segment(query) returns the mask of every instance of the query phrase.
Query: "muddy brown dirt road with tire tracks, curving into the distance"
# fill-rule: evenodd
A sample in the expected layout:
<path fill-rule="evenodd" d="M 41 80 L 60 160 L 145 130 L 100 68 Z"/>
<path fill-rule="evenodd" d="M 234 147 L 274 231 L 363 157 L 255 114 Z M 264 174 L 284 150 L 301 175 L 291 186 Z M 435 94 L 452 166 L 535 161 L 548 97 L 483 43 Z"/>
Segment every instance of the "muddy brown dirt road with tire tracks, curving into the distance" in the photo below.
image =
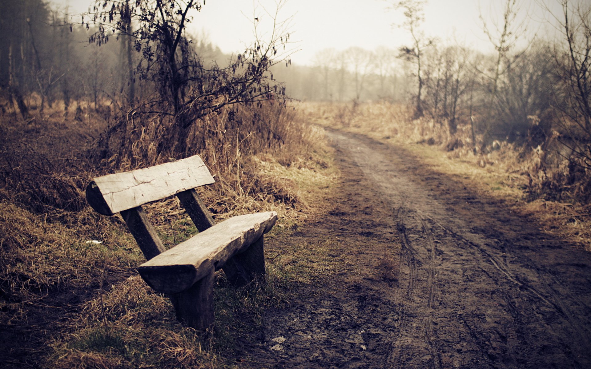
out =
<path fill-rule="evenodd" d="M 400 148 L 328 135 L 335 208 L 288 242 L 332 242 L 340 270 L 268 312 L 252 367 L 591 368 L 589 253 Z"/>

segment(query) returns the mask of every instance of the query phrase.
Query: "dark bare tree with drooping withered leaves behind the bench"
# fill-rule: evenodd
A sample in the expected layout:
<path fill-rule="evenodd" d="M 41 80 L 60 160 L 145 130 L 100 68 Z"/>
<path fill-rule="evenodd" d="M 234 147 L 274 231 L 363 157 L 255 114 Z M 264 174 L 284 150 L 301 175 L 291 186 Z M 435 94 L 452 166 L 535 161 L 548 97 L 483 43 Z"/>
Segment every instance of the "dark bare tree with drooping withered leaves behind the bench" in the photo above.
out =
<path fill-rule="evenodd" d="M 98 27 L 90 37 L 93 43 L 102 45 L 109 38 L 123 36 L 135 40 L 134 48 L 142 56 L 138 74 L 142 80 L 154 83 L 158 94 L 157 100 L 137 108 L 148 107 L 146 113 L 172 116 L 174 127 L 167 130 L 172 135 L 161 141 L 160 149 L 172 141 L 173 151 L 185 155 L 187 136 L 196 119 L 228 105 L 285 98 L 285 87 L 269 71 L 277 63 L 291 63 L 290 50 L 285 48 L 290 38 L 288 21 L 278 19 L 283 4 L 279 1 L 274 13 L 265 11 L 265 16 L 272 19 L 267 40 L 256 31 L 262 15 L 253 17 L 254 43 L 244 53 L 236 54 L 226 67 L 205 67 L 186 37 L 187 24 L 193 19 L 191 12 L 201 11 L 204 1 L 98 1 L 85 18 L 90 17 L 87 28 L 90 24 Z M 136 26 L 131 28 L 130 24 Z"/>

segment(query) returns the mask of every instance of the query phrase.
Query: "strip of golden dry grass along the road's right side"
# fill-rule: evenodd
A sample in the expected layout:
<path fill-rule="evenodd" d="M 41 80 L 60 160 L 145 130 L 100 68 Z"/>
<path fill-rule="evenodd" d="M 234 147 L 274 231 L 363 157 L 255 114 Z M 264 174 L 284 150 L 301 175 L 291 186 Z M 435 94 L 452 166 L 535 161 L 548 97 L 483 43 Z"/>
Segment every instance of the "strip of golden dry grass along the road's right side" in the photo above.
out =
<path fill-rule="evenodd" d="M 577 165 L 582 159 L 564 157 L 568 153 L 556 131 L 535 147 L 504 141 L 483 145 L 482 135 L 473 140 L 469 122 L 460 123 L 452 135 L 445 122 L 413 120 L 405 105 L 306 103 L 301 110 L 321 126 L 404 145 L 467 187 L 511 200 L 515 210 L 536 218 L 547 233 L 591 250 L 590 174 Z M 531 119 L 537 123 L 537 117 Z"/>

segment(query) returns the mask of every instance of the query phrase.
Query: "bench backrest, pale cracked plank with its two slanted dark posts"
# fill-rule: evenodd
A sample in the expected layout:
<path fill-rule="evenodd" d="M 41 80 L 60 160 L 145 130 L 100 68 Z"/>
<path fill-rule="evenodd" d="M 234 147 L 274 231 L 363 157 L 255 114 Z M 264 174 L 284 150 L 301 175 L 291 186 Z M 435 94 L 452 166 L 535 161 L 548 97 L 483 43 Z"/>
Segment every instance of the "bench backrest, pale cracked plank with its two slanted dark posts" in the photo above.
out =
<path fill-rule="evenodd" d="M 86 187 L 86 200 L 100 214 L 121 213 L 147 260 L 164 252 L 164 245 L 141 205 L 176 195 L 200 232 L 213 226 L 212 215 L 194 188 L 215 183 L 197 156 L 135 171 L 95 178 Z"/>

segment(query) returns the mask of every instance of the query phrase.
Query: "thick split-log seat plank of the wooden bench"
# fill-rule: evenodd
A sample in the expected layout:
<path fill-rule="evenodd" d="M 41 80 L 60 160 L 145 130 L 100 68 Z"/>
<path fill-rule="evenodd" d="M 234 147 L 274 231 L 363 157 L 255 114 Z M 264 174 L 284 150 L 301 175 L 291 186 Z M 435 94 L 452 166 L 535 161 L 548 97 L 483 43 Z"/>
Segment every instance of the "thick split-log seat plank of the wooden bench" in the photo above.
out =
<path fill-rule="evenodd" d="M 230 218 L 141 264 L 138 272 L 158 292 L 183 292 L 212 266 L 220 269 L 230 257 L 255 243 L 276 220 L 275 211 Z"/>

